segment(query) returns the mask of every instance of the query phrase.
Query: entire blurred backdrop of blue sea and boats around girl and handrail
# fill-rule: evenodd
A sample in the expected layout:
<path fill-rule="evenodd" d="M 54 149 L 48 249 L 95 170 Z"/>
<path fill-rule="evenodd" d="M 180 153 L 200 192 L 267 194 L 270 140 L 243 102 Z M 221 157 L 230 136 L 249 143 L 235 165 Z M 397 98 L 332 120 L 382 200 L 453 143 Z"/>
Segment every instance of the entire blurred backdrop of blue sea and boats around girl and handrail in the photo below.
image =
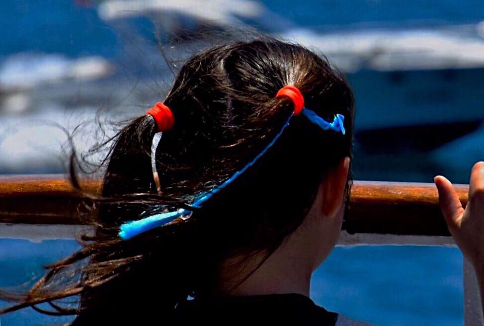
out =
<path fill-rule="evenodd" d="M 468 183 L 484 160 L 482 0 L 6 0 L 0 27 L 1 174 L 65 173 L 72 145 L 95 162 L 89 149 L 163 99 L 187 56 L 247 31 L 308 46 L 346 76 L 356 179 Z M 0 286 L 76 248 L 0 239 Z M 376 325 L 462 325 L 462 256 L 339 247 L 311 295 Z M 29 310 L 0 321 L 57 322 Z"/>

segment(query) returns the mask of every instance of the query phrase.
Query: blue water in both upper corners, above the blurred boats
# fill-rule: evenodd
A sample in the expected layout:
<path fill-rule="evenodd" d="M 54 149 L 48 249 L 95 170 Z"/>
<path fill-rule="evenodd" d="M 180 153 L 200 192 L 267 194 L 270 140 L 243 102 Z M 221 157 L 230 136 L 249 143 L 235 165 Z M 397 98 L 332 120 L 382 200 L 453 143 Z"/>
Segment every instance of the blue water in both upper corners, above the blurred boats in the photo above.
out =
<path fill-rule="evenodd" d="M 96 2 L 96 1 L 91 1 Z M 299 26 L 334 30 L 470 24 L 484 20 L 481 0 L 291 0 L 260 1 Z M 138 27 L 145 22 L 138 21 Z M 61 52 L 69 56 L 121 54 L 120 35 L 94 6 L 75 0 L 6 0 L 0 7 L 0 55 L 20 51 Z M 150 34 L 149 25 L 139 28 Z"/>

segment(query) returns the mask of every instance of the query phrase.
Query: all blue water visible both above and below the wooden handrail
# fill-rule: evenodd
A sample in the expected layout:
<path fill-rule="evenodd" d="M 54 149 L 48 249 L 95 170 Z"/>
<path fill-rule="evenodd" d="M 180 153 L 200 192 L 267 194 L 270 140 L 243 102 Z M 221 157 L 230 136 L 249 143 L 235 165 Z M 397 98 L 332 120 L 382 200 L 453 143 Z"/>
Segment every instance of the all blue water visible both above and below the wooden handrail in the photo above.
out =
<path fill-rule="evenodd" d="M 262 2 L 296 25 L 321 31 L 476 24 L 484 20 L 482 0 Z M 149 20 L 132 22 L 137 32 L 153 37 Z M 80 6 L 74 0 L 2 1 L 0 28 L 5 31 L 0 37 L 0 61 L 24 51 L 62 53 L 72 58 L 100 55 L 113 61 L 123 54 L 123 38 L 114 24 L 100 19 L 94 6 Z M 364 97 L 357 103 L 370 107 L 375 102 Z M 361 168 L 356 177 L 430 182 L 434 174 L 446 172 L 458 182 L 467 182 L 469 168 L 483 153 L 475 150 L 483 135 L 484 130 L 465 137 L 465 147 L 474 150 L 463 152 L 462 140 L 456 140 L 432 155 L 414 155 L 405 162 L 399 156 L 382 153 L 368 157 L 359 152 L 355 159 Z M 42 275 L 42 265 L 77 247 L 72 241 L 38 244 L 0 239 L 0 286 L 31 284 Z M 311 296 L 328 310 L 377 325 L 462 325 L 462 255 L 457 248 L 448 247 L 338 247 L 315 273 Z M 63 322 L 32 310 L 2 316 L 0 321 L 2 326 Z"/>

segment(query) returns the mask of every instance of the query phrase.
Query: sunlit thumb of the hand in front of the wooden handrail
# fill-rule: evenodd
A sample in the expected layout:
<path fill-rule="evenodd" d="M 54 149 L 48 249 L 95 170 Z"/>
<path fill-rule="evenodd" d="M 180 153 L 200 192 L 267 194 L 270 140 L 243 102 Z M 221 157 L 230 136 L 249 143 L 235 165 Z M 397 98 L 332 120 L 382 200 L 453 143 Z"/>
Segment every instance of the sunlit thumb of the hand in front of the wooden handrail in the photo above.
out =
<path fill-rule="evenodd" d="M 440 209 L 447 226 L 449 229 L 455 229 L 459 226 L 460 217 L 464 214 L 464 208 L 459 200 L 459 196 L 447 178 L 438 175 L 434 178 L 434 182 L 439 192 Z"/>

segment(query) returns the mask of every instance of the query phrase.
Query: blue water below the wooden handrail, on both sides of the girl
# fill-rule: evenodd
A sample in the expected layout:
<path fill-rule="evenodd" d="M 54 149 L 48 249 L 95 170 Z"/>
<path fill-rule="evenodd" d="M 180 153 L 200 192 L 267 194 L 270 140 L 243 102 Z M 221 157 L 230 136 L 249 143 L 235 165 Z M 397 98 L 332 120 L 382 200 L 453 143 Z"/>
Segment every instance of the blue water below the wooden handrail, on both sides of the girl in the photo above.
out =
<path fill-rule="evenodd" d="M 66 240 L 0 239 L 0 286 L 32 284 L 43 274 L 43 265 L 78 248 L 76 242 Z M 336 247 L 315 272 L 311 297 L 327 310 L 376 325 L 462 325 L 462 277 L 462 255 L 457 248 Z M 69 320 L 30 309 L 0 317 L 2 326 Z"/>

